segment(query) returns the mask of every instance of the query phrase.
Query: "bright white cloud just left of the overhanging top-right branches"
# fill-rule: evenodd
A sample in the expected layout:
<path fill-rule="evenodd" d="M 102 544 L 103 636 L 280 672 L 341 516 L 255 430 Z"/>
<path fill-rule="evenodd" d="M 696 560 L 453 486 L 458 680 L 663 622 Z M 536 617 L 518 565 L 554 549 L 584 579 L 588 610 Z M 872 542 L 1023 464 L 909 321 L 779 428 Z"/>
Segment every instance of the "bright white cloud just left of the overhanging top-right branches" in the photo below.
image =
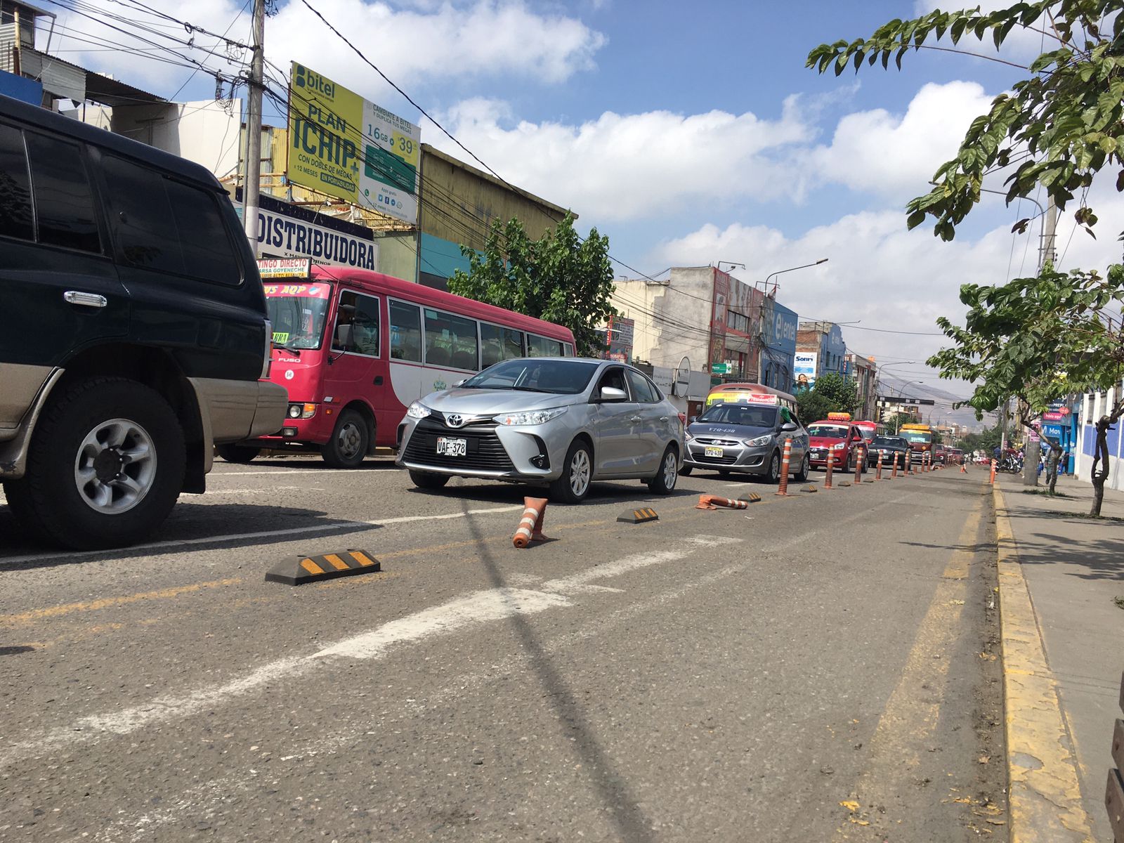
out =
<path fill-rule="evenodd" d="M 812 166 L 821 180 L 855 190 L 919 196 L 992 99 L 975 82 L 926 84 L 904 115 L 874 109 L 843 117 L 832 143 L 810 153 Z"/>

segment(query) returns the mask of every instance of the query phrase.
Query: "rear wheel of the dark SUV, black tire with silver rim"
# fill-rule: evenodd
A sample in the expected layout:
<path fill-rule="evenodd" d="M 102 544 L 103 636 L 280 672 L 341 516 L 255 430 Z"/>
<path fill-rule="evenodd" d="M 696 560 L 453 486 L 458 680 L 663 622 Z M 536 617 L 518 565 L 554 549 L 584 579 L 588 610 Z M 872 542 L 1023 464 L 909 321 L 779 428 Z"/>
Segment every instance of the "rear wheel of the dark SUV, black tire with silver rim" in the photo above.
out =
<path fill-rule="evenodd" d="M 135 544 L 167 517 L 183 488 L 183 428 L 154 389 L 85 378 L 53 396 L 35 430 L 13 511 L 74 550 Z"/>

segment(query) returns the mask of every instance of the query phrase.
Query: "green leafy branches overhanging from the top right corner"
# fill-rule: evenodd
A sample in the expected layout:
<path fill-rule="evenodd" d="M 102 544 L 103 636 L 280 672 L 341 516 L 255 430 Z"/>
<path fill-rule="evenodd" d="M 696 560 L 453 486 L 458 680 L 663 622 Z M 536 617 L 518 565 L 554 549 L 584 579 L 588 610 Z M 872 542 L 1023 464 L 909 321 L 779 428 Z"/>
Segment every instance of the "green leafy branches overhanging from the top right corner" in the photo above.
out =
<path fill-rule="evenodd" d="M 975 55 L 958 48 L 961 39 L 989 38 L 998 48 L 1015 27 L 1042 34 L 1050 48 L 1030 65 L 995 60 L 1025 70 L 1027 78 L 972 121 L 957 157 L 936 170 L 933 189 L 907 206 L 910 228 L 932 216 L 934 234 L 951 241 L 980 200 L 984 176 L 1001 167 L 1015 165 L 1007 179 L 1008 203 L 1041 185 L 1064 209 L 1073 192 L 1085 191 L 1106 166 L 1120 171 L 1116 189 L 1124 190 L 1124 15 L 1114 13 L 1120 8 L 1120 0 L 1039 0 L 986 13 L 937 9 L 891 20 L 869 38 L 821 44 L 808 54 L 807 66 L 839 75 L 850 64 L 858 72 L 863 61 L 880 58 L 887 67 L 892 55 L 900 70 L 910 49 Z M 1111 30 L 1102 29 L 1106 16 Z M 945 36 L 951 46 L 940 45 Z M 1091 234 L 1097 218 L 1084 196 L 1073 217 Z"/>

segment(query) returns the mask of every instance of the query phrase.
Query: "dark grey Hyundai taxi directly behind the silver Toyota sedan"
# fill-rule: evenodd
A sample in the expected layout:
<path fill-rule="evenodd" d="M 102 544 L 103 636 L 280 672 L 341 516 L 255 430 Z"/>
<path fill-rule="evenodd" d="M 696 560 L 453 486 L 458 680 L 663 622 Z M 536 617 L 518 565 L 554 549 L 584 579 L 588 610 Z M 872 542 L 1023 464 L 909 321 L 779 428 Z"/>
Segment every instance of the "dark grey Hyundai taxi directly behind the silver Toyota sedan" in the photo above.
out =
<path fill-rule="evenodd" d="M 808 479 L 808 432 L 778 396 L 761 393 L 755 399 L 713 404 L 688 425 L 683 474 L 710 469 L 720 474 L 756 474 L 776 483 L 785 439 L 790 438 L 789 473 L 799 482 Z"/>

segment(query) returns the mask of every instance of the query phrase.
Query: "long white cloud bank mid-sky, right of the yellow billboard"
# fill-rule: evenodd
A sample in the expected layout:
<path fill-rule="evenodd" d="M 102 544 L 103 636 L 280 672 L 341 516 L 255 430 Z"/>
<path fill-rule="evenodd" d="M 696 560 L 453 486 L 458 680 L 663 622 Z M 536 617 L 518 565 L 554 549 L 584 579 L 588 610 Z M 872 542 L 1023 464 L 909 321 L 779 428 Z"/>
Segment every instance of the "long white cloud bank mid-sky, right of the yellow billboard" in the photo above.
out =
<path fill-rule="evenodd" d="M 606 111 L 580 125 L 511 123 L 507 106 L 491 100 L 463 102 L 445 118 L 465 146 L 498 162 L 507 181 L 598 221 L 664 216 L 685 202 L 789 196 L 786 156 L 813 132 L 796 97 L 777 120 L 715 110 Z M 432 126 L 423 133 L 463 155 Z"/>

